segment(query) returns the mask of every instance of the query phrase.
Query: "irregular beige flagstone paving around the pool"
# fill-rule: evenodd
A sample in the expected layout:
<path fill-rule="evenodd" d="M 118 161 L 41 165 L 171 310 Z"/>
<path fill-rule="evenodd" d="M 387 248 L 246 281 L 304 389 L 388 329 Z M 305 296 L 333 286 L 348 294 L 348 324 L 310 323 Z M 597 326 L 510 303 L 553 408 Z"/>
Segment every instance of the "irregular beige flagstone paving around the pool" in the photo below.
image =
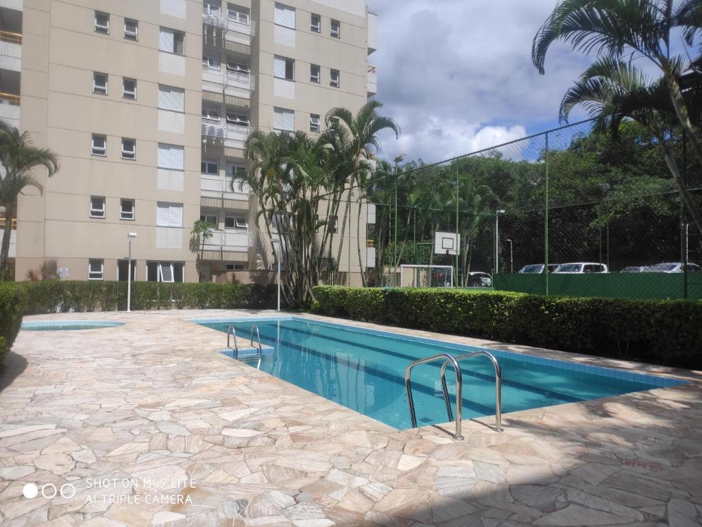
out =
<path fill-rule="evenodd" d="M 223 333 L 185 322 L 236 314 L 27 318 L 126 325 L 20 332 L 0 382 L 1 525 L 701 522 L 701 372 L 429 334 L 691 380 L 507 414 L 503 433 L 464 422 L 454 441 L 442 427 L 397 431 L 226 358 Z M 69 486 L 29 499 L 26 483 Z"/>

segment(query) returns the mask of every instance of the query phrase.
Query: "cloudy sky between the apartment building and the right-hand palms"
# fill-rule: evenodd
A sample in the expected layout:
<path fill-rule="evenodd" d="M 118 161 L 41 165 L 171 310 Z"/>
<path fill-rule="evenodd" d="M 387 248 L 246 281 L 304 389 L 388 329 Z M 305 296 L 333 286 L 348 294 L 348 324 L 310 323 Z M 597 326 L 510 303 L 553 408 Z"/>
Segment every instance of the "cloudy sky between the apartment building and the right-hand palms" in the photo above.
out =
<path fill-rule="evenodd" d="M 381 134 L 380 157 L 437 162 L 558 126 L 559 103 L 590 60 L 556 44 L 545 75 L 531 63 L 556 3 L 367 0 L 378 15 L 376 100 L 402 129 L 399 141 Z"/>

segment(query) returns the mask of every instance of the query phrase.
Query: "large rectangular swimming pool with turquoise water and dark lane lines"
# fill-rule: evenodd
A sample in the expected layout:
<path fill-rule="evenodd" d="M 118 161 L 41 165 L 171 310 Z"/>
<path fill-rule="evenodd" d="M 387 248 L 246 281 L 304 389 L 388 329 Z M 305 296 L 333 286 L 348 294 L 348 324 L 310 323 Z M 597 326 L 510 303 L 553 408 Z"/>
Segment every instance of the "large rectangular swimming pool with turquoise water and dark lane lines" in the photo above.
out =
<path fill-rule="evenodd" d="M 272 353 L 261 358 L 260 370 L 397 429 L 411 427 L 404 386 L 404 373 L 409 363 L 437 353 L 458 355 L 479 349 L 299 317 L 192 322 L 221 332 L 232 325 L 239 337 L 246 339 L 251 326 L 258 325 L 263 344 L 274 348 Z M 508 351 L 489 351 L 502 369 L 503 412 L 682 384 L 677 379 Z M 251 363 L 251 359 L 240 360 Z M 441 362 L 437 361 L 420 365 L 412 373 L 419 426 L 447 420 L 440 367 Z M 494 370 L 489 359 L 483 356 L 466 360 L 461 363 L 461 372 L 463 419 L 494 415 Z M 450 370 L 446 380 L 449 393 L 455 393 Z M 451 402 L 455 403 L 453 398 Z"/>

